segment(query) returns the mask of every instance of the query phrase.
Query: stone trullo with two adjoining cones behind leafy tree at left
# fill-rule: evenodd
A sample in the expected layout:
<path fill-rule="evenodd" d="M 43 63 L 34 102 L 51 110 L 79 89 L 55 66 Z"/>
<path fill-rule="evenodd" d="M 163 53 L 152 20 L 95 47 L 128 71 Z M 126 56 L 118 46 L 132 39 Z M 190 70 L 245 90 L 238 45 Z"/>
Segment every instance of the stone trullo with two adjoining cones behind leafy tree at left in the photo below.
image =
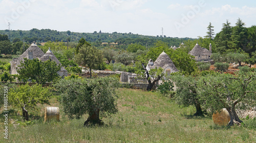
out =
<path fill-rule="evenodd" d="M 49 50 L 44 53 L 36 44 L 33 42 L 31 46 L 22 54 L 19 56 L 19 58 L 13 59 L 11 63 L 11 74 L 18 74 L 16 68 L 18 68 L 18 65 L 24 60 L 24 58 L 27 58 L 29 60 L 32 59 L 39 59 L 42 62 L 45 62 L 51 58 L 51 60 L 55 61 L 57 65 L 60 64 L 59 60 L 56 58 L 56 56 L 52 53 L 52 51 Z M 61 64 L 60 64 L 61 65 Z M 61 67 L 59 71 L 59 75 L 62 76 L 67 76 L 68 71 L 64 68 Z"/>

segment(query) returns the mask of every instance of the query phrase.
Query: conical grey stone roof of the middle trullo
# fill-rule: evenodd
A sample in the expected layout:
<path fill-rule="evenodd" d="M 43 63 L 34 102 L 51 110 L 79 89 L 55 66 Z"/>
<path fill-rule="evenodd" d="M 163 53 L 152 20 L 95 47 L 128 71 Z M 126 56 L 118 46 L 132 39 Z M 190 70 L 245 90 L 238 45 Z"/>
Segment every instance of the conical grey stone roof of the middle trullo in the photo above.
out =
<path fill-rule="evenodd" d="M 158 56 L 157 60 L 154 62 L 154 65 L 147 65 L 148 68 L 154 69 L 154 68 L 167 68 L 170 67 L 174 72 L 178 72 L 179 70 L 175 67 L 172 60 L 170 60 L 168 54 L 166 54 L 164 51 Z"/>

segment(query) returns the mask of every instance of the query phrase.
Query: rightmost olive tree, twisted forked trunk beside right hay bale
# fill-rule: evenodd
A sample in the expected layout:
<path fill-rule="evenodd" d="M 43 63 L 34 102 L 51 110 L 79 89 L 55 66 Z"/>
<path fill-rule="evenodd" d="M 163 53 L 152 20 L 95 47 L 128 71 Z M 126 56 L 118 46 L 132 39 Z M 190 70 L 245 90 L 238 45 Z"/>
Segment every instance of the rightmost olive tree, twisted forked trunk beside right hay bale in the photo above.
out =
<path fill-rule="evenodd" d="M 200 79 L 200 99 L 205 107 L 215 112 L 226 108 L 229 112 L 228 125 L 240 124 L 236 107 L 246 109 L 256 105 L 255 72 L 239 72 L 231 74 L 206 75 Z"/>

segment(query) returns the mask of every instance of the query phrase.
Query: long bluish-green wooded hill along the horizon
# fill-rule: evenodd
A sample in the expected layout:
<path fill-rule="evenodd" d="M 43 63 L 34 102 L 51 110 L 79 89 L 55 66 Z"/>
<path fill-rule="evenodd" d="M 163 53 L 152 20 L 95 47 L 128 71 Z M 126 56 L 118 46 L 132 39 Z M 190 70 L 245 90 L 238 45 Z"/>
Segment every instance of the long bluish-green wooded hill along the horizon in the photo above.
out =
<path fill-rule="evenodd" d="M 8 35 L 10 41 L 12 42 L 15 38 L 19 38 L 20 40 L 25 39 L 27 42 L 32 43 L 36 42 L 47 42 L 47 41 L 63 41 L 67 42 L 69 38 L 70 42 L 78 42 L 82 37 L 86 39 L 88 42 L 115 42 L 118 44 L 128 45 L 130 43 L 141 43 L 143 45 L 151 44 L 155 41 L 163 41 L 168 43 L 169 45 L 179 45 L 182 41 L 186 41 L 188 39 L 193 40 L 191 38 L 172 38 L 172 37 L 157 37 L 157 36 L 144 36 L 132 33 L 77 33 L 77 32 L 59 32 L 56 30 L 50 29 L 42 29 L 38 30 L 33 28 L 30 31 L 22 31 L 22 30 L 0 30 L 0 34 Z"/>

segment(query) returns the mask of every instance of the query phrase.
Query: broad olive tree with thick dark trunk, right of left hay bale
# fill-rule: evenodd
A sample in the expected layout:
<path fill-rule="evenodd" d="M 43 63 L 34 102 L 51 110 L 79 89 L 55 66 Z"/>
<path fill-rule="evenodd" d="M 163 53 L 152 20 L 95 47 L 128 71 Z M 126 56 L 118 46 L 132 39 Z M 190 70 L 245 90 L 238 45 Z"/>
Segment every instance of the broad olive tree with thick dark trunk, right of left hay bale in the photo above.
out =
<path fill-rule="evenodd" d="M 63 110 L 70 119 L 89 114 L 84 125 L 102 124 L 100 115 L 105 117 L 118 111 L 116 78 L 62 79 L 54 87 L 60 93 Z"/>

